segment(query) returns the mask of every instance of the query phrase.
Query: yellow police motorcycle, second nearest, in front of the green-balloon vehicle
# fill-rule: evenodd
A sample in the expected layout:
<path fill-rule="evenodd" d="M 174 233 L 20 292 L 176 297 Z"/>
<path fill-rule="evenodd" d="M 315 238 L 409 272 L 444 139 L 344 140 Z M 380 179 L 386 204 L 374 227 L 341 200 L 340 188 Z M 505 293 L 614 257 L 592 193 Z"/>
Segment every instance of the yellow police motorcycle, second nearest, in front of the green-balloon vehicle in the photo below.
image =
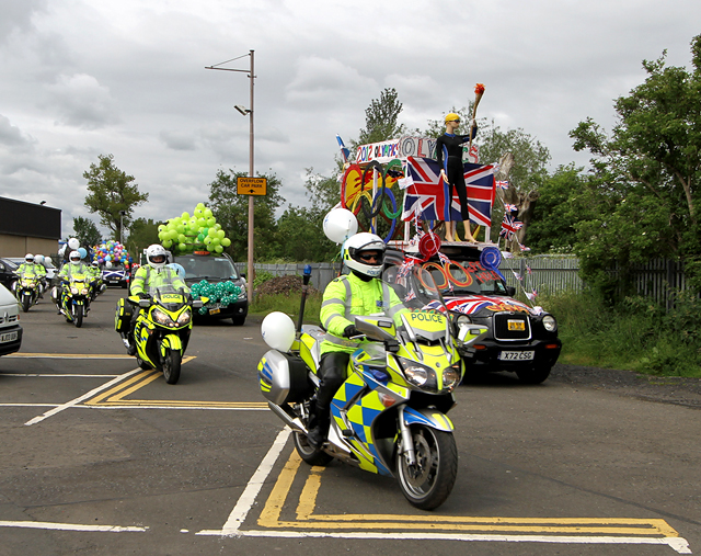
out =
<path fill-rule="evenodd" d="M 172 285 L 151 287 L 148 298 L 130 295 L 117 303 L 115 330 L 129 349 L 136 343 L 136 360 L 143 370 L 157 368 L 168 384 L 180 378 L 180 367 L 193 329 L 193 308 L 199 309 L 208 298 L 193 299 L 185 290 Z M 134 327 L 129 327 L 134 310 L 140 309 Z"/>

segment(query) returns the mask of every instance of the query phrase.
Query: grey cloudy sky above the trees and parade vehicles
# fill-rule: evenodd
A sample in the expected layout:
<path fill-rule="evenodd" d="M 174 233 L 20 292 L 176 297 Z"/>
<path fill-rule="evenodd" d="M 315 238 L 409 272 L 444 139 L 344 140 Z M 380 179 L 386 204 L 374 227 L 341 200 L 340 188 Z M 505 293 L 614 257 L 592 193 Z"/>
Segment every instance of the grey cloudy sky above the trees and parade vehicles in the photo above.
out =
<path fill-rule="evenodd" d="M 208 197 L 218 169 L 249 169 L 245 73 L 255 50 L 255 169 L 304 200 L 306 168 L 329 174 L 388 87 L 401 122 L 425 128 L 486 92 L 479 116 L 520 127 L 553 167 L 587 156 L 567 133 L 610 129 L 613 99 L 668 50 L 689 66 L 699 0 L 0 0 L 0 196 L 60 208 L 64 235 L 101 154 L 166 219 Z"/>

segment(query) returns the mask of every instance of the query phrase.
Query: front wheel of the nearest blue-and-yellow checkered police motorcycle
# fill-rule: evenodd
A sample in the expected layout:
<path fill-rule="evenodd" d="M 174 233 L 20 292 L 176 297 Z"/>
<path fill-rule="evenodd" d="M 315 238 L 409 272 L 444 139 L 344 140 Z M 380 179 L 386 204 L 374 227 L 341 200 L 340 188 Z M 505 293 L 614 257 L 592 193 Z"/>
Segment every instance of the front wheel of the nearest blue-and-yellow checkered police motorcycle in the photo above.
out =
<path fill-rule="evenodd" d="M 411 427 L 416 464 L 399 456 L 397 470 L 404 498 L 421 510 L 434 510 L 446 501 L 458 476 L 458 449 L 452 433 L 423 424 Z"/>

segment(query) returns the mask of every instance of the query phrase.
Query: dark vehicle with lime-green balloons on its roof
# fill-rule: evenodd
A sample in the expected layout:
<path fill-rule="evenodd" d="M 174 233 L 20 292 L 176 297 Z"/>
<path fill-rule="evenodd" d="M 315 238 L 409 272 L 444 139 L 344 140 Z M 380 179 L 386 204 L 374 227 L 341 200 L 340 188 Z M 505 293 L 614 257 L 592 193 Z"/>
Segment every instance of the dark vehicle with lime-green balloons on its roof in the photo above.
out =
<path fill-rule="evenodd" d="M 234 325 L 241 326 L 249 315 L 249 298 L 245 291 L 245 279 L 239 274 L 231 258 L 226 254 L 215 254 L 208 251 L 182 254 L 174 258 L 175 263 L 185 269 L 185 282 L 189 287 L 203 280 L 210 284 L 230 282 L 239 287 L 239 294 L 233 303 L 225 304 L 210 300 L 199 318 L 230 318 Z"/>

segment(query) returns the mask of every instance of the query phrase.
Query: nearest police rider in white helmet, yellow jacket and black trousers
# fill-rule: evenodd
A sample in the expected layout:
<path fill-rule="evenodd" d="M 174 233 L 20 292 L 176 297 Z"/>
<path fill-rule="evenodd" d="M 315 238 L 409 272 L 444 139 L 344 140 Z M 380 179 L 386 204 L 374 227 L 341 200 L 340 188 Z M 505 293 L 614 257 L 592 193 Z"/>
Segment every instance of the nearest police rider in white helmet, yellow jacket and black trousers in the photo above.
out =
<path fill-rule="evenodd" d="M 379 280 L 384 249 L 384 242 L 375 234 L 360 232 L 348 238 L 342 254 L 350 273 L 334 279 L 324 290 L 320 318 L 326 334 L 321 343 L 321 384 L 308 427 L 308 440 L 314 449 L 321 447 L 329 433 L 331 400 L 346 379 L 350 353 L 365 341 L 353 339 L 358 336 L 354 318 L 378 314 L 393 317 L 406 310 L 397 295 L 391 297 L 391 307 L 383 304 L 383 298 L 390 298 L 386 293 L 388 286 L 383 287 Z"/>

